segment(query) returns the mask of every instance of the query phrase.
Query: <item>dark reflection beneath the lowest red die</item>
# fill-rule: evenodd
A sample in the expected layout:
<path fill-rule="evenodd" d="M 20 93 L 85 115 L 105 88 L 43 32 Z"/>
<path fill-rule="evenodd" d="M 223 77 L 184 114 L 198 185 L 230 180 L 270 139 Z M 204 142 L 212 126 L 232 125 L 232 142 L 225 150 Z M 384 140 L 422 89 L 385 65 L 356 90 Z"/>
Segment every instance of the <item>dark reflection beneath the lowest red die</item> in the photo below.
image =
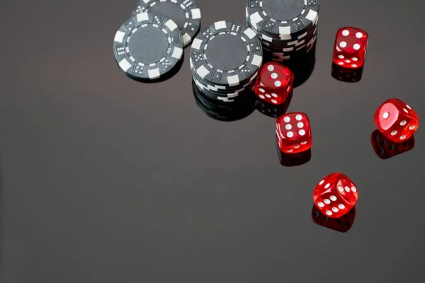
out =
<path fill-rule="evenodd" d="M 353 207 L 349 212 L 338 218 L 329 218 L 313 205 L 312 220 L 314 224 L 323 226 L 328 229 L 346 233 L 353 226 L 354 219 L 356 219 L 356 207 Z"/>

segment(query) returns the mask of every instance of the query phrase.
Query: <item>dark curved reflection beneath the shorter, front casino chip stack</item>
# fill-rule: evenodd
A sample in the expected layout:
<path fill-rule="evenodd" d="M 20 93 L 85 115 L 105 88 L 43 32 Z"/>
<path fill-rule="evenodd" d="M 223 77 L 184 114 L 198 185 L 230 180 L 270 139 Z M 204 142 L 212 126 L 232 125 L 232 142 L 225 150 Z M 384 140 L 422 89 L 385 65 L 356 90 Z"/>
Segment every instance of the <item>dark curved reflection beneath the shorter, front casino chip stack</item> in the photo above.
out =
<path fill-rule="evenodd" d="M 237 121 L 251 115 L 255 110 L 254 96 L 249 94 L 244 99 L 219 103 L 205 95 L 192 81 L 193 95 L 198 107 L 212 119 L 219 121 Z"/>

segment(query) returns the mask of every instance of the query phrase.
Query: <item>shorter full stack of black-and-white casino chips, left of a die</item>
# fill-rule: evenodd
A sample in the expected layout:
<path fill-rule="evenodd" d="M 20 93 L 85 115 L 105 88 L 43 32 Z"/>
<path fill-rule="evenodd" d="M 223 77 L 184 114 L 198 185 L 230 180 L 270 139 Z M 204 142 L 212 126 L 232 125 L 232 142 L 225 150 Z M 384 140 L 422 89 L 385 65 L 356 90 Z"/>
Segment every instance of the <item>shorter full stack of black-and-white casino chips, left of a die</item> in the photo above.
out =
<path fill-rule="evenodd" d="M 242 23 L 213 23 L 192 42 L 193 81 L 213 102 L 232 103 L 251 96 L 262 62 L 259 37 Z"/>

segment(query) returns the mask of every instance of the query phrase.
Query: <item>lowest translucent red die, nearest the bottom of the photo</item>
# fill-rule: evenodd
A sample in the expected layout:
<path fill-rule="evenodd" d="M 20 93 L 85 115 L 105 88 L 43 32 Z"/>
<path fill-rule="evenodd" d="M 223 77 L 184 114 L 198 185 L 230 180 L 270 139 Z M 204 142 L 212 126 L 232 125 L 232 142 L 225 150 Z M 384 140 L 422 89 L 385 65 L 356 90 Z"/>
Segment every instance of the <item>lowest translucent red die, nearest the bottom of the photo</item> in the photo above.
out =
<path fill-rule="evenodd" d="M 350 211 L 358 199 L 357 187 L 342 173 L 331 173 L 317 184 L 313 202 L 323 214 L 338 218 Z"/>

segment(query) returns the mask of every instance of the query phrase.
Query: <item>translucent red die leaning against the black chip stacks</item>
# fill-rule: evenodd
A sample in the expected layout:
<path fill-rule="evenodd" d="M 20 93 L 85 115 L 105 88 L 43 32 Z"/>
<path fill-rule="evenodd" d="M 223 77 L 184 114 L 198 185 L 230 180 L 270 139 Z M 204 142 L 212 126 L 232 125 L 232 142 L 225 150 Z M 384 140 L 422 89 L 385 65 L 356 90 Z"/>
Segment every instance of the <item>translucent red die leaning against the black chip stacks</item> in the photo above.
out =
<path fill-rule="evenodd" d="M 293 88 L 294 74 L 288 67 L 276 62 L 261 67 L 254 92 L 261 100 L 279 105 L 285 102 Z"/>

